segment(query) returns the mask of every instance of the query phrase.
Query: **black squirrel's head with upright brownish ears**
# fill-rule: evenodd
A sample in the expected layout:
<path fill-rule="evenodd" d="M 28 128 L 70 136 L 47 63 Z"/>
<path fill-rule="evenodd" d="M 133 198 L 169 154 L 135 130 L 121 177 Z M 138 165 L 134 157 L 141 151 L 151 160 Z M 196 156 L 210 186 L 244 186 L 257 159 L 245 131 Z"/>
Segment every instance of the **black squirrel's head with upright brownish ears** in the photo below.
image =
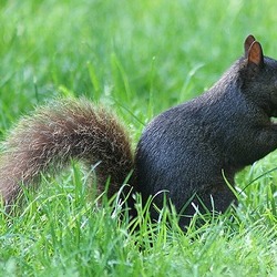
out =
<path fill-rule="evenodd" d="M 277 61 L 264 55 L 252 34 L 246 38 L 244 49 L 239 62 L 242 92 L 273 116 L 277 111 Z"/>

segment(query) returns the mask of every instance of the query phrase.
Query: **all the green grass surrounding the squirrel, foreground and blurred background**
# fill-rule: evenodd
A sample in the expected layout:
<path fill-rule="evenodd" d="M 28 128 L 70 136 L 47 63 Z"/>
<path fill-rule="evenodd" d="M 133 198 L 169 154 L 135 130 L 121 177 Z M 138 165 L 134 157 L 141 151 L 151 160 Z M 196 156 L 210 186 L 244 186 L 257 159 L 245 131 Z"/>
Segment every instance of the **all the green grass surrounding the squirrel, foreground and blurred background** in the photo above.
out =
<path fill-rule="evenodd" d="M 0 136 L 37 104 L 85 95 L 116 111 L 135 146 L 151 117 L 211 86 L 247 34 L 277 58 L 276 11 L 269 0 L 0 0 Z M 232 218 L 186 234 L 166 211 L 156 225 L 141 212 L 130 233 L 116 198 L 99 206 L 72 165 L 25 192 L 22 213 L 0 215 L 0 276 L 276 276 L 276 157 L 238 174 Z"/>

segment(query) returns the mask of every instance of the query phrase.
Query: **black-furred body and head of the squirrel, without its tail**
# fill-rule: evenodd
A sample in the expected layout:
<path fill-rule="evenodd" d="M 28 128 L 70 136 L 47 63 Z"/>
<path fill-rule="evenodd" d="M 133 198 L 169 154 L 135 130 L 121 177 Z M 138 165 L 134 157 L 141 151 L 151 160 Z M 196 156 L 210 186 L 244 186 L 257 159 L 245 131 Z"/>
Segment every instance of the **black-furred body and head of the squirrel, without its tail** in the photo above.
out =
<path fill-rule="evenodd" d="M 249 35 L 245 55 L 207 92 L 157 115 L 138 142 L 137 189 L 146 199 L 166 191 L 179 212 L 196 194 L 206 207 L 224 212 L 235 196 L 235 173 L 277 147 L 277 61 L 263 55 Z M 211 201 L 213 197 L 213 202 Z M 193 203 L 202 205 L 195 196 Z M 162 206 L 163 194 L 155 197 Z M 195 209 L 192 203 L 186 215 Z M 183 219 L 186 224 L 188 220 Z"/>

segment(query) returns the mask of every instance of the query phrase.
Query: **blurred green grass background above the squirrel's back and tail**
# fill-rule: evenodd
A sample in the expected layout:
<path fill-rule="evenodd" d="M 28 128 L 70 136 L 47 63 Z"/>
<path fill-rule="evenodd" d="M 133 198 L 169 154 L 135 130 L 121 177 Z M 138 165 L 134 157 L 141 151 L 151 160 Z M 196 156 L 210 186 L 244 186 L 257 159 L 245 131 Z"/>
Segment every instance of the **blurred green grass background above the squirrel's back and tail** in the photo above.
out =
<path fill-rule="evenodd" d="M 140 133 L 142 122 L 211 86 L 247 34 L 266 54 L 276 49 L 269 0 L 0 2 L 1 130 L 34 104 L 74 94 L 120 110 Z"/>

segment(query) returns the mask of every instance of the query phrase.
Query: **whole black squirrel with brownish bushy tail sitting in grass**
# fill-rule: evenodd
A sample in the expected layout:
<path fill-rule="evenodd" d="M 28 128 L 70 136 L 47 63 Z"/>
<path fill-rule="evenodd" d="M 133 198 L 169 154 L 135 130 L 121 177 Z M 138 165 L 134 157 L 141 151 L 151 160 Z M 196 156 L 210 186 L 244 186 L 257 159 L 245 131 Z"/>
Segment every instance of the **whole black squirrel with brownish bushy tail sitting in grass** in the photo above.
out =
<path fill-rule="evenodd" d="M 39 106 L 2 144 L 3 201 L 12 204 L 21 193 L 19 184 L 38 183 L 41 173 L 76 158 L 88 166 L 100 161 L 99 189 L 110 177 L 109 195 L 133 171 L 129 183 L 143 201 L 157 194 L 154 202 L 161 207 L 166 196 L 188 216 L 195 207 L 205 211 L 203 204 L 225 212 L 236 197 L 224 175 L 234 184 L 235 173 L 277 147 L 277 124 L 270 121 L 277 115 L 277 61 L 264 57 L 253 35 L 244 48 L 244 57 L 212 89 L 157 115 L 135 154 L 124 126 L 103 107 L 72 99 Z M 188 222 L 181 217 L 181 224 Z"/>

